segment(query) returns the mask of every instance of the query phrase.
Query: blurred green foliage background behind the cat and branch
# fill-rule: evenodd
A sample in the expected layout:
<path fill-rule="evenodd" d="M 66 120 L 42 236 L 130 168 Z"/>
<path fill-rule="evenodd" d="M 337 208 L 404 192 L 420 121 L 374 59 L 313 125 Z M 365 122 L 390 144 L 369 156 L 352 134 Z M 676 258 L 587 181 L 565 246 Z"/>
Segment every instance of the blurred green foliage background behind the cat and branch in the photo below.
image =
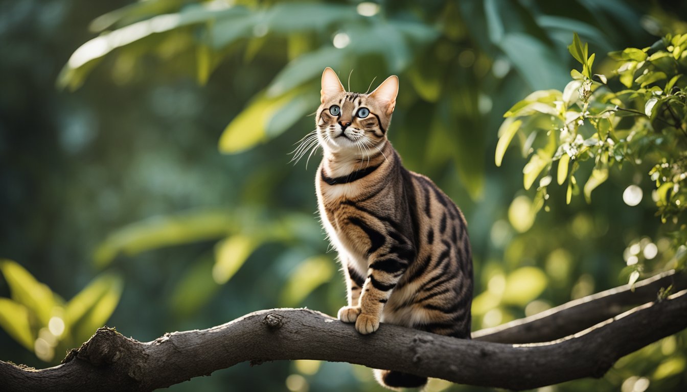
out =
<path fill-rule="evenodd" d="M 617 150 L 633 123 L 642 124 L 636 132 L 667 135 L 673 128 L 658 118 L 679 102 L 659 100 L 675 95 L 665 89 L 668 75 L 682 71 L 662 69 L 667 56 L 640 65 L 631 57 L 642 56 L 638 52 L 620 51 L 613 56 L 629 57 L 621 64 L 636 64 L 624 69 L 626 76 L 616 75 L 619 60 L 605 54 L 637 47 L 647 58 L 663 51 L 677 61 L 674 44 L 651 48 L 668 33 L 671 39 L 687 33 L 685 19 L 681 2 L 639 0 L 0 2 L 0 50 L 8 54 L 0 61 L 0 252 L 30 270 L 32 281 L 49 286 L 35 292 L 50 293 L 51 309 L 63 309 L 62 316 L 49 313 L 48 324 L 30 316 L 36 310 L 14 297 L 16 284 L 3 270 L 0 296 L 11 299 L 0 299 L 0 356 L 44 367 L 34 351 L 38 338 L 55 343 L 52 360 L 84 341 L 95 330 L 87 320 L 97 317 L 84 312 L 81 321 L 68 322 L 78 313 L 68 317 L 65 307 L 77 298 L 82 309 L 98 310 L 101 324 L 114 309 L 106 322 L 142 341 L 275 306 L 336 314 L 346 301 L 345 286 L 313 214 L 314 171 L 287 165 L 293 143 L 313 129 L 306 115 L 319 104 L 326 66 L 352 91 L 374 87 L 391 73 L 400 77 L 389 137 L 407 168 L 438 183 L 470 224 L 473 329 L 617 286 L 639 266 L 647 274 L 659 270 L 676 255 L 666 227 L 675 224 L 670 214 L 675 200 L 682 205 L 682 187 L 664 187 L 666 224 L 654 216 L 657 205 L 648 197 L 635 206 L 622 200 L 626 192 L 637 194 L 629 184 L 648 194 L 647 177 L 661 182 L 652 183 L 656 188 L 681 181 L 673 178 L 671 162 L 663 167 L 652 161 L 657 152 L 642 157 L 624 150 L 628 161 L 611 170 L 616 157 L 609 154 L 602 182 L 604 176 L 592 176 L 596 157 L 606 151 L 600 146 L 583 143 L 594 159 L 590 154 L 573 174 L 581 159 L 568 161 L 567 170 L 559 170 L 556 159 L 551 168 L 565 141 L 556 139 L 547 150 L 547 130 L 563 126 L 552 125 L 546 113 L 507 117 L 510 124 L 497 130 L 502 114 L 532 91 L 540 92 L 527 98 L 530 103 L 541 98 L 549 108 L 567 91 L 565 111 L 583 113 L 584 125 L 571 124 L 583 142 L 602 130 L 616 137 Z M 581 37 L 574 52 L 582 67 L 567 48 L 574 32 Z M 586 53 L 582 41 L 589 43 Z M 576 91 L 565 88 L 573 67 L 581 68 L 575 82 L 591 80 L 585 111 Z M 635 82 L 644 69 L 653 76 Z M 595 73 L 606 76 L 603 84 Z M 673 87 L 684 83 L 679 78 Z M 652 95 L 656 86 L 662 95 Z M 604 95 L 611 89 L 617 97 Z M 620 94 L 623 89 L 635 92 Z M 651 97 L 657 100 L 646 116 Z M 640 114 L 609 112 L 614 123 L 606 130 L 590 116 L 614 108 L 613 98 Z M 675 124 L 672 117 L 666 121 Z M 497 137 L 507 133 L 521 151 Z M 641 139 L 651 138 L 631 139 L 626 147 L 636 148 L 631 143 Z M 668 150 L 679 154 L 678 148 Z M 494 151 L 499 168 L 492 164 Z M 539 157 L 528 164 L 527 190 L 519 153 Z M 642 162 L 629 161 L 633 157 Z M 655 165 L 660 168 L 651 178 Z M 568 205 L 567 187 L 551 186 L 559 172 L 561 184 L 579 180 L 572 190 L 580 193 L 587 178 L 596 178 L 592 203 L 571 197 Z M 547 191 L 537 192 L 542 186 Z M 121 290 L 122 281 L 126 290 L 115 309 L 108 293 Z M 56 292 L 74 299 L 65 304 Z M 57 341 L 40 335 L 53 316 L 65 323 Z M 543 391 L 682 390 L 686 338 L 682 332 L 622 358 L 600 380 Z M 247 366 L 171 389 L 381 390 L 359 366 Z M 484 389 L 441 380 L 428 387 L 447 390 Z"/>

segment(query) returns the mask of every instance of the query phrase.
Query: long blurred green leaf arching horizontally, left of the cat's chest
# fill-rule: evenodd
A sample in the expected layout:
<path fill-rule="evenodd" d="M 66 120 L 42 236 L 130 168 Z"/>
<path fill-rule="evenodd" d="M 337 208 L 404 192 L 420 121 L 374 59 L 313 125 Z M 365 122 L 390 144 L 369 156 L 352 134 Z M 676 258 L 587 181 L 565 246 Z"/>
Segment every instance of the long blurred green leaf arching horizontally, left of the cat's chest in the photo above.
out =
<path fill-rule="evenodd" d="M 104 267 L 120 253 L 135 255 L 164 246 L 222 238 L 232 228 L 232 220 L 224 209 L 157 216 L 129 224 L 108 235 L 95 249 L 93 261 L 95 265 Z"/>

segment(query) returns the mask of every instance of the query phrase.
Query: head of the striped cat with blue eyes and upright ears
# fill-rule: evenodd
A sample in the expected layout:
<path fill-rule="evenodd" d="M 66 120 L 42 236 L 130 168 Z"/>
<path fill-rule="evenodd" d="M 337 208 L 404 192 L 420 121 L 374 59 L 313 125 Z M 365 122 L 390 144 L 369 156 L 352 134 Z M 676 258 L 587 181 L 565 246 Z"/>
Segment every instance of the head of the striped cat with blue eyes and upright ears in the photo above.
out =
<path fill-rule="evenodd" d="M 322 104 L 315 117 L 319 143 L 330 152 L 365 155 L 374 151 L 386 140 L 397 93 L 396 76 L 387 78 L 372 93 L 350 93 L 327 67 L 322 73 Z"/>

